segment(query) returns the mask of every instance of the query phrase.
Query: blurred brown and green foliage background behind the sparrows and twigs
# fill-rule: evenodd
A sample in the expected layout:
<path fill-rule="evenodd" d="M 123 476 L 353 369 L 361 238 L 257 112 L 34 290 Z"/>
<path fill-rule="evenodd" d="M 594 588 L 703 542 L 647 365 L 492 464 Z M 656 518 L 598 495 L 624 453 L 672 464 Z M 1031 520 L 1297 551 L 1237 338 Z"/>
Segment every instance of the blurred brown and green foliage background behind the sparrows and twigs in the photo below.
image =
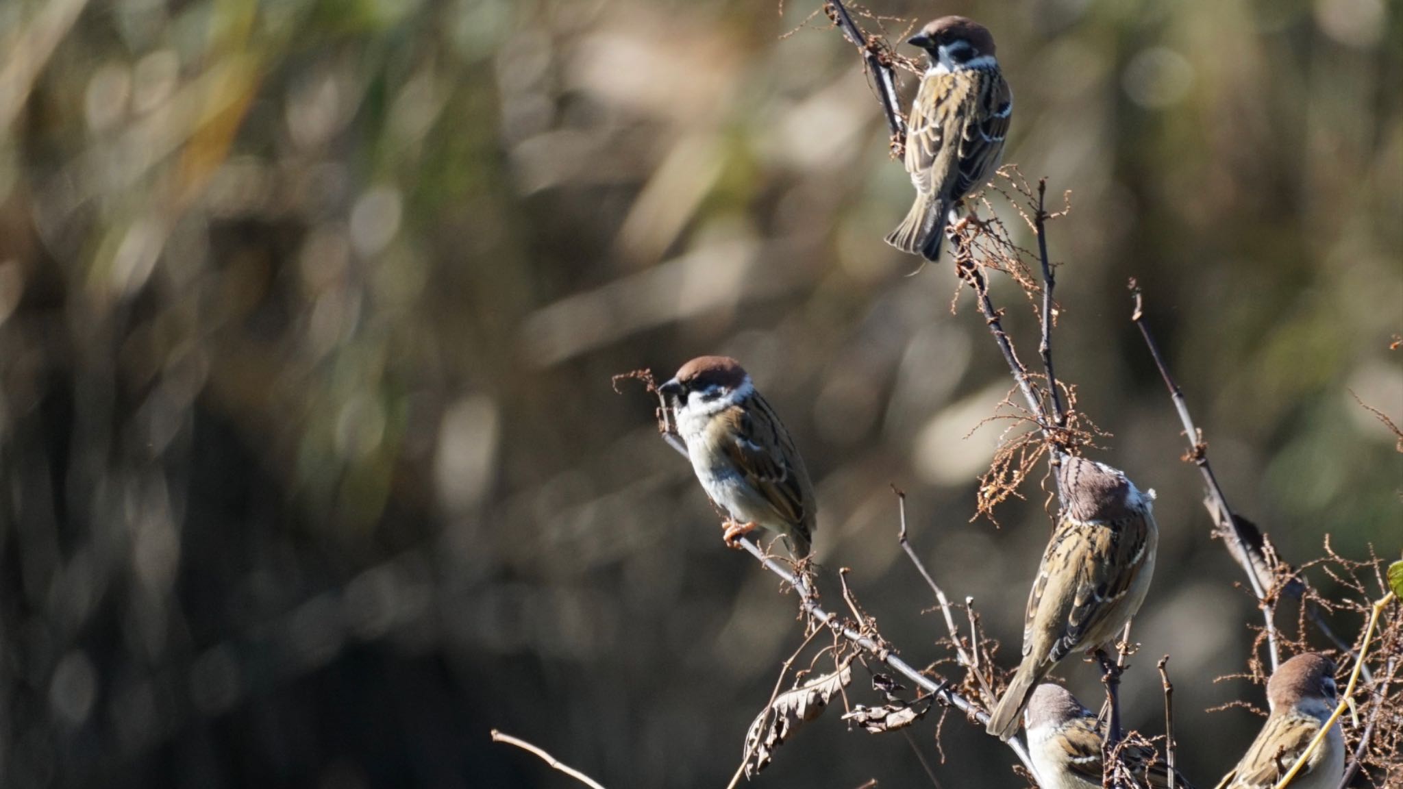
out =
<path fill-rule="evenodd" d="M 969 521 L 1010 380 L 951 271 L 881 243 L 909 184 L 818 7 L 0 3 L 0 782 L 570 785 L 495 726 L 609 786 L 724 785 L 794 601 L 609 386 L 700 352 L 784 416 L 819 560 L 908 660 L 940 628 L 888 483 L 1012 664 L 1044 493 Z M 1261 705 L 1212 682 L 1256 616 L 1125 281 L 1281 553 L 1396 553 L 1403 455 L 1351 392 L 1403 416 L 1403 14 L 874 8 L 988 24 L 1006 161 L 1072 191 L 1059 375 L 1163 531 L 1128 722 L 1159 731 L 1172 653 L 1180 764 L 1212 785 L 1257 727 L 1202 712 Z M 995 298 L 1031 358 L 1021 295 Z M 943 741 L 946 786 L 1021 785 L 972 727 Z M 758 785 L 868 778 L 926 781 L 828 716 Z"/>

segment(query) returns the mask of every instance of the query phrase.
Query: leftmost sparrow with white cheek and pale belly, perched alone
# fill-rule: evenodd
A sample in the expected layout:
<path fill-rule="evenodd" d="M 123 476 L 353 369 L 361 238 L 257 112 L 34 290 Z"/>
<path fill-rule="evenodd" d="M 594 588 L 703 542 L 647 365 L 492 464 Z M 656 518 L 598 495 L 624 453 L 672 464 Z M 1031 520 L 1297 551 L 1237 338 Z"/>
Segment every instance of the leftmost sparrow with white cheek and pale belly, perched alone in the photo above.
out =
<path fill-rule="evenodd" d="M 727 357 L 697 357 L 658 387 L 672 403 L 692 469 L 727 514 L 725 543 L 765 528 L 783 535 L 796 559 L 814 535 L 814 483 L 794 439 L 751 376 Z"/>

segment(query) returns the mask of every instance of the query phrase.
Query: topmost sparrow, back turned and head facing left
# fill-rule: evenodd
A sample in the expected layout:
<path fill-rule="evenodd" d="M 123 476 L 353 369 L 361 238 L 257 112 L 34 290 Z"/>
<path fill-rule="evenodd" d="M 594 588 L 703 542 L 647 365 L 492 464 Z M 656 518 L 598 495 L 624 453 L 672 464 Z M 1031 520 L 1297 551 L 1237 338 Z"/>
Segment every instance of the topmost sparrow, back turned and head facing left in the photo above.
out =
<path fill-rule="evenodd" d="M 999 168 L 1013 91 L 993 56 L 993 37 L 979 22 L 941 17 L 906 44 L 930 60 L 906 124 L 906 173 L 916 201 L 887 243 L 939 260 L 951 208 Z"/>

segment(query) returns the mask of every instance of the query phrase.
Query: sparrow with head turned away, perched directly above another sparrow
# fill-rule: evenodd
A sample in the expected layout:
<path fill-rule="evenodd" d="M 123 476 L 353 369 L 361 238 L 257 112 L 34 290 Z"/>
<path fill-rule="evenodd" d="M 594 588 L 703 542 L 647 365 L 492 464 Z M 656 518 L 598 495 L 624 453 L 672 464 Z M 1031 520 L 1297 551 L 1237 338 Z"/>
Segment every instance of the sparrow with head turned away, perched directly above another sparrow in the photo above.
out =
<path fill-rule="evenodd" d="M 1002 740 L 1019 729 L 1028 695 L 1058 661 L 1115 640 L 1155 571 L 1153 491 L 1085 458 L 1062 458 L 1056 479 L 1062 512 L 1028 594 L 1023 661 L 989 717 L 989 733 Z"/>

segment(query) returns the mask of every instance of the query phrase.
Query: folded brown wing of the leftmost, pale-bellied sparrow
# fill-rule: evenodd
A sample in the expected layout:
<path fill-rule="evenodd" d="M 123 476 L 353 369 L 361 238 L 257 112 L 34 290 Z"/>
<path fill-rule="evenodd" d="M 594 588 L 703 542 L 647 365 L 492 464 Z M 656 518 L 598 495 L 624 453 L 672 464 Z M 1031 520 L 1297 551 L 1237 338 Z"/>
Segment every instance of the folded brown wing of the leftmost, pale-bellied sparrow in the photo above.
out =
<path fill-rule="evenodd" d="M 753 420 L 746 409 L 730 409 L 720 418 L 730 423 L 730 435 L 721 451 L 774 510 L 779 521 L 803 526 L 804 536 L 812 529 L 815 511 L 814 487 L 779 417 L 763 397 L 756 394 L 752 406 L 763 410 L 763 420 Z"/>

